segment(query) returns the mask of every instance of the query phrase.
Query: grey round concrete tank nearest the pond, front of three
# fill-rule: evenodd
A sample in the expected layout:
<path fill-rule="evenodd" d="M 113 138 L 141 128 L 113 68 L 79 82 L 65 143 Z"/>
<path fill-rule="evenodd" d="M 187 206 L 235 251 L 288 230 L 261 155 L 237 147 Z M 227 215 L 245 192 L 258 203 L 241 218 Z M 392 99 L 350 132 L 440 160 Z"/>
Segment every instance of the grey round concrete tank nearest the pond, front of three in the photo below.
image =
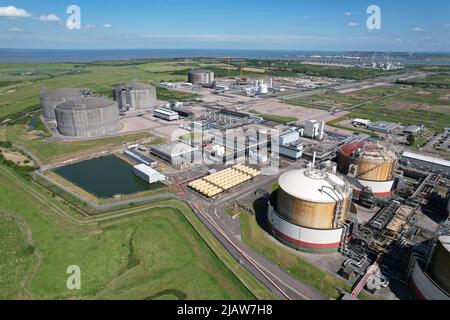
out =
<path fill-rule="evenodd" d="M 99 137 L 120 129 L 117 103 L 101 97 L 71 99 L 56 107 L 58 131 L 71 137 Z"/>

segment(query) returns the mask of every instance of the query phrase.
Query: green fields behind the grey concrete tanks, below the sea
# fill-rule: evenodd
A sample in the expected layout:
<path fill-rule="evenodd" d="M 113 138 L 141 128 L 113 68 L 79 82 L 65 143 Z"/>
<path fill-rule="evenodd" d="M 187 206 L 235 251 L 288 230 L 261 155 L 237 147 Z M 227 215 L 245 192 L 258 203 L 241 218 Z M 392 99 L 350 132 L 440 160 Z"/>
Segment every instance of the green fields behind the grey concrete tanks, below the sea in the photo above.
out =
<path fill-rule="evenodd" d="M 157 84 L 161 81 L 187 80 L 193 67 L 223 66 L 219 61 L 209 63 L 191 60 L 140 60 L 96 63 L 0 63 L 0 119 L 24 110 L 39 108 L 39 94 L 43 89 L 61 87 L 89 89 L 94 93 L 112 96 L 112 87 L 128 82 Z M 158 90 L 161 100 L 187 101 L 195 95 Z"/>

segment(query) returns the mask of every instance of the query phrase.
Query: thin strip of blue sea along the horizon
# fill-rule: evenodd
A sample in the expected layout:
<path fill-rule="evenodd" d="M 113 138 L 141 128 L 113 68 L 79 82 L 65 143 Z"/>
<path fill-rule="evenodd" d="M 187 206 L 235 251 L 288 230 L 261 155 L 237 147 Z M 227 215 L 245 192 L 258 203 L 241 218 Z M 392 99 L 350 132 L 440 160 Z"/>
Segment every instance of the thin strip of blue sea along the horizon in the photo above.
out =
<path fill-rule="evenodd" d="M 450 53 L 374 53 L 294 50 L 239 49 L 1 49 L 0 62 L 95 62 L 138 59 L 175 58 L 243 58 L 269 60 L 301 60 L 327 63 L 356 63 L 389 60 L 393 64 L 450 66 Z"/>

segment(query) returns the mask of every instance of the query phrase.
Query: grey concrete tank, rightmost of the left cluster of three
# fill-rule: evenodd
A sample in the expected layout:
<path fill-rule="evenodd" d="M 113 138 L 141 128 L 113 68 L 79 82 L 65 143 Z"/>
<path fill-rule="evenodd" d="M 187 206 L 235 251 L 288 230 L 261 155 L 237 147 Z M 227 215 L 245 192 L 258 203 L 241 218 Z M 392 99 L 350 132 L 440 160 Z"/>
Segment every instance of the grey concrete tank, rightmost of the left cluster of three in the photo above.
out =
<path fill-rule="evenodd" d="M 113 98 L 121 111 L 151 109 L 156 106 L 156 87 L 144 83 L 116 86 Z"/>

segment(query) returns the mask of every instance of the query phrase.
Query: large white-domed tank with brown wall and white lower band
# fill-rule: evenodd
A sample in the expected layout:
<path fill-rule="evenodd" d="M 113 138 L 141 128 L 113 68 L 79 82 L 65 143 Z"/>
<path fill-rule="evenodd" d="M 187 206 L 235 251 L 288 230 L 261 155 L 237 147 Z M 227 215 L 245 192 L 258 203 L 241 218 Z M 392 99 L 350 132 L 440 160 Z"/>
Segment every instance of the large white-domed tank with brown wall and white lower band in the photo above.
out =
<path fill-rule="evenodd" d="M 289 171 L 280 177 L 279 185 L 268 211 L 275 237 L 307 252 L 336 251 L 352 188 L 332 173 L 311 169 Z"/>

